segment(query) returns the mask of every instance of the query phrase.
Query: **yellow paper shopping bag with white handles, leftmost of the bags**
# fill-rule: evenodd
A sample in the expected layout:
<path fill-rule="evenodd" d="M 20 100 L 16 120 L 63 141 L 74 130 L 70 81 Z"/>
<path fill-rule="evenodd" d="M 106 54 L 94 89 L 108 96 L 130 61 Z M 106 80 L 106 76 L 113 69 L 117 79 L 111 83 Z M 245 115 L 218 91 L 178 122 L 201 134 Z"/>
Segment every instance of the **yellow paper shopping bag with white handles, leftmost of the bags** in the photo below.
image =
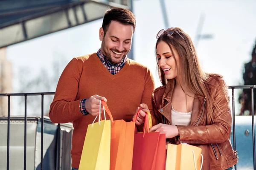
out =
<path fill-rule="evenodd" d="M 101 106 L 101 101 L 99 102 Z M 99 107 L 100 110 L 100 107 Z M 98 116 L 96 116 L 97 118 Z M 109 170 L 110 169 L 110 148 L 111 148 L 111 120 L 101 121 L 88 125 L 84 146 L 81 154 L 79 170 Z"/>

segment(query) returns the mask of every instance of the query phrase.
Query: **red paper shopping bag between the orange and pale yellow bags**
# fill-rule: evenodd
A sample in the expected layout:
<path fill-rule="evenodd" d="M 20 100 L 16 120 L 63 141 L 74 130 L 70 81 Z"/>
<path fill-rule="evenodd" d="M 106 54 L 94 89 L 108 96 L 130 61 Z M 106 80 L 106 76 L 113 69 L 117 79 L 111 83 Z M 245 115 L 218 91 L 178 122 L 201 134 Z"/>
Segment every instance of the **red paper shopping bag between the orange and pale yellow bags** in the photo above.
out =
<path fill-rule="evenodd" d="M 134 116 L 136 121 L 140 109 Z M 143 133 L 134 136 L 132 170 L 164 170 L 166 158 L 165 134 L 149 132 L 148 113 L 145 116 Z"/>

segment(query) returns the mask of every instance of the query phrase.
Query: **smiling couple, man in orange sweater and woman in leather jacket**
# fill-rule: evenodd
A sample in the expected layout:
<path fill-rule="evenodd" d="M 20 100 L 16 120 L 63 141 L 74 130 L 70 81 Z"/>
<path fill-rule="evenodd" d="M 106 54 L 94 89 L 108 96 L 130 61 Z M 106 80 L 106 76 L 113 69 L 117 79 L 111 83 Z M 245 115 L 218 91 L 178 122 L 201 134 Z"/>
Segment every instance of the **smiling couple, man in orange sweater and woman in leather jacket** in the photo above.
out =
<path fill-rule="evenodd" d="M 202 71 L 185 31 L 168 28 L 155 33 L 163 86 L 154 90 L 149 69 L 127 58 L 135 27 L 130 11 L 106 11 L 99 29 L 99 51 L 73 58 L 61 74 L 49 117 L 55 123 L 73 122 L 73 170 L 79 167 L 87 126 L 99 115 L 99 99 L 108 102 L 113 119 L 127 122 L 138 106 L 142 108 L 137 126 L 144 123 L 144 111 L 150 111 L 150 130 L 165 133 L 166 142 L 202 149 L 203 170 L 233 170 L 238 156 L 230 143 L 232 118 L 222 77 Z"/>

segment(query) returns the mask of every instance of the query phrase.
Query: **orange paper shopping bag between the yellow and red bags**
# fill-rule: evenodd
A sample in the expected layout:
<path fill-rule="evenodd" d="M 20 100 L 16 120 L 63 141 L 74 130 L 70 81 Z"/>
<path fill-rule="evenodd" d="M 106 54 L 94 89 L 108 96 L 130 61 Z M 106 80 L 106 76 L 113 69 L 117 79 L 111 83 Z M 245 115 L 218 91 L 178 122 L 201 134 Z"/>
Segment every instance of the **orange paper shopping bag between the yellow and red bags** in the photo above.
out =
<path fill-rule="evenodd" d="M 104 100 L 102 105 L 112 117 Z M 134 147 L 135 122 L 115 120 L 111 124 L 110 170 L 131 170 Z"/>

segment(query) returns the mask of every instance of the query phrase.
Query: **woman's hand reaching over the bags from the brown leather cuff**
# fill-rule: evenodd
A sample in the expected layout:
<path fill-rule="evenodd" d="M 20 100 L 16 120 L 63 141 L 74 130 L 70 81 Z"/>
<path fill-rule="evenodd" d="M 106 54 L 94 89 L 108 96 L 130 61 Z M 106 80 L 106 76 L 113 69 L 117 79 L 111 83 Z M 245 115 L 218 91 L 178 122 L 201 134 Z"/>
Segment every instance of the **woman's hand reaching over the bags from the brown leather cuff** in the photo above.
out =
<path fill-rule="evenodd" d="M 154 132 L 154 131 L 160 132 L 160 134 L 166 134 L 166 139 L 173 138 L 173 137 L 179 135 L 179 130 L 178 130 L 177 126 L 166 125 L 166 124 L 162 124 L 162 123 L 151 127 L 150 131 L 151 132 Z"/>

